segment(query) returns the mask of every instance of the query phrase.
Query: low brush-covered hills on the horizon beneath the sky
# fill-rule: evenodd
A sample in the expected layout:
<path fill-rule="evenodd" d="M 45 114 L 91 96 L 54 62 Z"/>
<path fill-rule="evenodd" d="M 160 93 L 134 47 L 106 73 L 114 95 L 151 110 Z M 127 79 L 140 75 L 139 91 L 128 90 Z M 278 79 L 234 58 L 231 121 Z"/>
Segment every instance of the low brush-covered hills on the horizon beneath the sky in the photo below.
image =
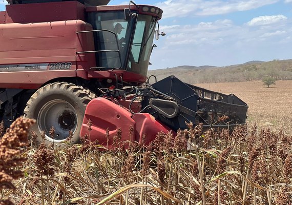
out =
<path fill-rule="evenodd" d="M 292 79 L 292 59 L 273 61 L 248 61 L 240 65 L 216 66 L 178 66 L 174 68 L 148 71 L 148 76 L 155 75 L 157 80 L 175 75 L 185 83 L 224 83 L 250 80 L 262 80 L 273 76 L 277 80 Z"/>

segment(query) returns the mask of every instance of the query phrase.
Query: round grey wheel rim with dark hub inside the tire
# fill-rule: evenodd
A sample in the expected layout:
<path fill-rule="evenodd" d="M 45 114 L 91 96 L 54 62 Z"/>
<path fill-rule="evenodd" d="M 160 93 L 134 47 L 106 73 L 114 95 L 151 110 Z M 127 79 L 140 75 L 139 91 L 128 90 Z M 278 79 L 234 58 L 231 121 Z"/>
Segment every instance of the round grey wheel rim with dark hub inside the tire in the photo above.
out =
<path fill-rule="evenodd" d="M 69 131 L 75 133 L 78 117 L 74 107 L 65 100 L 55 99 L 46 103 L 37 116 L 39 131 L 45 131 L 49 141 L 64 141 L 69 136 Z M 55 129 L 55 135 L 50 136 L 50 129 Z"/>

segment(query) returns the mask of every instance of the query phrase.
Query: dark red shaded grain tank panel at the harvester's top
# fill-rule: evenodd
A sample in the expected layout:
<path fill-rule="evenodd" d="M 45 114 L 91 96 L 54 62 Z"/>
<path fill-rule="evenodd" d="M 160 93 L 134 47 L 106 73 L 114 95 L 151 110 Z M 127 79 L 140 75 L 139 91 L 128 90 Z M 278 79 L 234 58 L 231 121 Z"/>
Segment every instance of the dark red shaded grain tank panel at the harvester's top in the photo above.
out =
<path fill-rule="evenodd" d="M 85 5 L 77 1 L 6 6 L 8 23 L 55 22 L 59 20 L 85 20 Z"/>

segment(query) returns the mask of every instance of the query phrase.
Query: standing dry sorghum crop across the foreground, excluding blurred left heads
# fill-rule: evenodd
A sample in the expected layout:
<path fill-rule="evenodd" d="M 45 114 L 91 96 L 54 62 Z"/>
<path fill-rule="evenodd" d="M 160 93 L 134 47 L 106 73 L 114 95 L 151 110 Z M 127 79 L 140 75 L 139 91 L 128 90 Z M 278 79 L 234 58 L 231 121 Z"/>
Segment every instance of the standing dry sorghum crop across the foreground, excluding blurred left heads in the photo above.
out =
<path fill-rule="evenodd" d="M 292 137 L 281 131 L 203 133 L 190 124 L 176 136 L 158 133 L 149 146 L 123 146 L 24 147 L 24 177 L 14 192 L 2 192 L 0 204 L 292 203 Z"/>

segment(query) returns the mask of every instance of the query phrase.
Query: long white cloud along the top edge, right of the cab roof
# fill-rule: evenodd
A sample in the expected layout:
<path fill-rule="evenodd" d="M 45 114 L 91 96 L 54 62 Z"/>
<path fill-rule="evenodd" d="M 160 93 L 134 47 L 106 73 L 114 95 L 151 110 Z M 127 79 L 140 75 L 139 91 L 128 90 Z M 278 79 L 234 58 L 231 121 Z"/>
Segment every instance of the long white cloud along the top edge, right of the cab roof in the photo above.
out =
<path fill-rule="evenodd" d="M 277 3 L 279 0 L 168 0 L 157 3 L 163 12 L 163 17 L 184 17 L 187 15 L 218 15 L 236 11 L 256 9 L 265 5 Z M 292 0 L 286 0 L 292 1 Z"/>

